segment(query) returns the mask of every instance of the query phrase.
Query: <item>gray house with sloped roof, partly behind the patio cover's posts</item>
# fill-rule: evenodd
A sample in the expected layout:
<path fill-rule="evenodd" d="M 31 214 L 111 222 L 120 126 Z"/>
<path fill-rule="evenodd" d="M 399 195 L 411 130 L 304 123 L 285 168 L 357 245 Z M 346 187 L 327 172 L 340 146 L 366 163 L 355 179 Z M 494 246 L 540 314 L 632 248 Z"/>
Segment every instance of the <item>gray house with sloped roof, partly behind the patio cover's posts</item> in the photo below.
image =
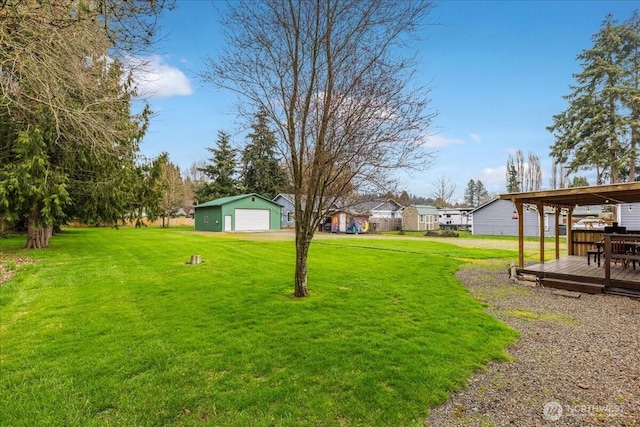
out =
<path fill-rule="evenodd" d="M 509 200 L 493 199 L 484 205 L 478 206 L 470 213 L 473 215 L 473 225 L 471 227 L 473 235 L 518 235 L 518 216 L 515 206 Z M 539 236 L 540 220 L 536 206 L 526 206 L 523 209 L 523 215 L 524 235 Z M 543 215 L 545 235 L 555 236 L 555 215 L 553 210 L 546 208 Z"/>

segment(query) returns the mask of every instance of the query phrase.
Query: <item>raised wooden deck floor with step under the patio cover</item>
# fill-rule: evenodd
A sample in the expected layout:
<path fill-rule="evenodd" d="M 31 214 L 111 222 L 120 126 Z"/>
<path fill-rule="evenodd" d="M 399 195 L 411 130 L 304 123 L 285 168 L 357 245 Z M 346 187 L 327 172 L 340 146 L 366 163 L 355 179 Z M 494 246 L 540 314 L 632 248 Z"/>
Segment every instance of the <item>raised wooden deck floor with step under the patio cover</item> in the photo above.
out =
<path fill-rule="evenodd" d="M 640 298 L 640 265 L 634 270 L 631 265 L 623 268 L 620 264 L 611 264 L 610 282 L 606 284 L 604 262 L 598 267 L 594 262 L 587 265 L 587 257 L 567 256 L 525 266 L 518 272 L 537 276 L 546 287 Z"/>

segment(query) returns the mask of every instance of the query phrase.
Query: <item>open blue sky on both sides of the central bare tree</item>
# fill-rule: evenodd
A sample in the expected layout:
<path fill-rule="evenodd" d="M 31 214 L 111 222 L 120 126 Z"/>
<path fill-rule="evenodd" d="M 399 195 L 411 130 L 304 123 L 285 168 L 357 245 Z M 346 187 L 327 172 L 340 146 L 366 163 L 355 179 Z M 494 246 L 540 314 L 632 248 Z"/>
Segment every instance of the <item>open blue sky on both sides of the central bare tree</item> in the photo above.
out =
<path fill-rule="evenodd" d="M 166 151 L 185 169 L 209 157 L 206 147 L 214 146 L 218 130 L 234 135 L 240 128 L 234 95 L 197 77 L 203 58 L 222 43 L 215 8 L 208 0 L 177 0 L 177 6 L 162 18 L 164 38 L 141 80 L 156 113 L 141 148 L 147 156 Z M 640 4 L 633 1 L 438 2 L 430 15 L 437 25 L 421 43 L 419 73 L 439 112 L 428 143 L 434 162 L 403 174 L 406 190 L 429 196 L 444 177 L 456 185 L 457 199 L 470 179 L 503 193 L 505 164 L 515 150 L 540 158 L 549 188 L 553 137 L 546 127 L 566 108 L 562 96 L 580 71 L 576 56 L 592 46 L 607 14 L 625 21 L 635 9 Z M 244 143 L 240 134 L 233 139 Z"/>

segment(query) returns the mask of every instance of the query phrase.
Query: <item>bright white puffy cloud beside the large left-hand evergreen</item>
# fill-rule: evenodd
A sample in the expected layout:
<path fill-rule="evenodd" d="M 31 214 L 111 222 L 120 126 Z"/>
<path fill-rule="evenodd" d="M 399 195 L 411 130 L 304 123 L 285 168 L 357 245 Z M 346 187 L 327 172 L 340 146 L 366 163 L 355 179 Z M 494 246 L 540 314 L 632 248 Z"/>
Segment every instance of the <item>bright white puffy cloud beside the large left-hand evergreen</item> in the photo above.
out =
<path fill-rule="evenodd" d="M 128 58 L 133 78 L 142 97 L 170 98 L 191 95 L 189 78 L 178 68 L 167 64 L 160 56 Z"/>

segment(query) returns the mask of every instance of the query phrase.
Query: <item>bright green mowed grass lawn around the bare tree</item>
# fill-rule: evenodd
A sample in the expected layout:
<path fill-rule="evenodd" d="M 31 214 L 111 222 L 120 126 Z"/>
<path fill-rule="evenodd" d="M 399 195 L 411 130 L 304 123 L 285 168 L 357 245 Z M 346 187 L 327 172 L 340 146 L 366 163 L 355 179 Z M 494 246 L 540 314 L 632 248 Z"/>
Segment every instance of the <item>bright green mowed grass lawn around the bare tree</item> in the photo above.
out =
<path fill-rule="evenodd" d="M 0 285 L 3 426 L 409 426 L 517 333 L 454 278 L 513 251 L 69 229 Z M 185 263 L 192 254 L 203 264 Z"/>

